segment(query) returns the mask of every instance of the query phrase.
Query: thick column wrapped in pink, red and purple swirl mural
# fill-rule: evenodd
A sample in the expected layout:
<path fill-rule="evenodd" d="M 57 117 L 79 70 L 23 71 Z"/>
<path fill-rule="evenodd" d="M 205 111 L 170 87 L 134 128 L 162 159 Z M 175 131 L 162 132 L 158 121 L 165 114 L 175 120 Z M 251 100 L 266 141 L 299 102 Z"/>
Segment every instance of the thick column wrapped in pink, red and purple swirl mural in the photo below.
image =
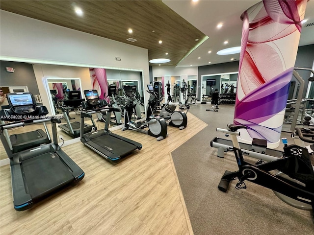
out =
<path fill-rule="evenodd" d="M 267 140 L 276 148 L 292 78 L 307 0 L 264 0 L 243 20 L 234 123 L 239 141 Z"/>

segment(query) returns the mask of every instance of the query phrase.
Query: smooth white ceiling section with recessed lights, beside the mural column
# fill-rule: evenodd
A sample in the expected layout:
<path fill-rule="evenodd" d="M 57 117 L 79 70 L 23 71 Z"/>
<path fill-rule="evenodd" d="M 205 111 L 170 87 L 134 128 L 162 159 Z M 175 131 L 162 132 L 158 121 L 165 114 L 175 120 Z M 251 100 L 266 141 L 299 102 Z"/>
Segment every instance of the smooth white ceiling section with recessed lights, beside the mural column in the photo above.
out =
<path fill-rule="evenodd" d="M 239 60 L 240 54 L 217 55 L 216 52 L 241 43 L 241 14 L 260 0 L 162 0 L 190 24 L 209 36 L 200 47 L 190 53 L 177 67 L 204 66 Z M 307 4 L 307 23 L 314 22 L 314 0 Z M 217 24 L 223 26 L 218 29 Z M 228 44 L 224 44 L 228 41 Z M 299 46 L 314 44 L 314 25 L 302 29 Z M 208 53 L 211 51 L 211 53 Z M 198 59 L 201 57 L 200 59 Z"/>

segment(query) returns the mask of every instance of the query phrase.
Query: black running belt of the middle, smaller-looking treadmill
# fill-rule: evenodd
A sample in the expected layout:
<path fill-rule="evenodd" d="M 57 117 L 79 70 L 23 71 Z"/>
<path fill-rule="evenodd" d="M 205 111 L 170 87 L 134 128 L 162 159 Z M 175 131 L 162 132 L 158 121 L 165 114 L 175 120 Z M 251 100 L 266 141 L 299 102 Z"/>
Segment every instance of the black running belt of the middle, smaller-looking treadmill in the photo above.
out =
<path fill-rule="evenodd" d="M 114 153 L 121 157 L 137 149 L 135 145 L 128 143 L 126 141 L 122 141 L 110 135 L 103 135 L 103 136 L 94 138 L 92 142 L 105 148 L 107 151 L 110 151 L 111 153 Z"/>

